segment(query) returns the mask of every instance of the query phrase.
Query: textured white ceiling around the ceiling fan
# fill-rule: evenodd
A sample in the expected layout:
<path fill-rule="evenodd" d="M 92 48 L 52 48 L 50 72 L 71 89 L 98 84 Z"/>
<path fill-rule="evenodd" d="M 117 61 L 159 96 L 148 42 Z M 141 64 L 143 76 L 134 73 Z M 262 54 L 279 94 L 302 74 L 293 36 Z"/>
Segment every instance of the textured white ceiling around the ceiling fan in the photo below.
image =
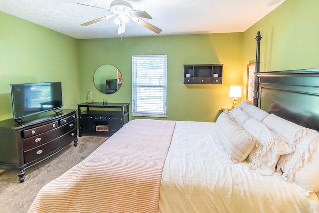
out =
<path fill-rule="evenodd" d="M 143 19 L 162 29 L 160 35 L 243 32 L 285 0 L 127 0 Z M 113 14 L 112 0 L 0 0 L 0 11 L 77 39 L 119 37 L 115 17 L 80 24 Z M 158 36 L 130 20 L 123 37 Z"/>

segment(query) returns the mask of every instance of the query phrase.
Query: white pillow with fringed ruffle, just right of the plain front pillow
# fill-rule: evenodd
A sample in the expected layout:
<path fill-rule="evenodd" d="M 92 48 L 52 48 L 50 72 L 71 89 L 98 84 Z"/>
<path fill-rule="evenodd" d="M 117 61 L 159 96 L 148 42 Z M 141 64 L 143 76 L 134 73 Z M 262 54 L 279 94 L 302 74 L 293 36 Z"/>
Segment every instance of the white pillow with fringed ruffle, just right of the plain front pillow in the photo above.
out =
<path fill-rule="evenodd" d="M 249 167 L 261 175 L 272 175 L 279 157 L 292 153 L 293 150 L 284 140 L 255 118 L 247 120 L 243 127 L 258 139 L 258 143 L 248 156 L 248 161 L 251 162 Z"/>

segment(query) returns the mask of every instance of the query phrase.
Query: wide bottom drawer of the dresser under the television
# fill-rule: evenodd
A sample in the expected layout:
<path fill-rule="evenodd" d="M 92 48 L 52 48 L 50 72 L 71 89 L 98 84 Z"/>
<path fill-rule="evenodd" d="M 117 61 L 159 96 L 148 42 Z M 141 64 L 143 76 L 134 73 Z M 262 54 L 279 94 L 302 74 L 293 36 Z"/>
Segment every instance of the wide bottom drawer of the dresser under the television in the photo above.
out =
<path fill-rule="evenodd" d="M 76 137 L 76 128 L 67 132 L 66 134 L 58 137 L 48 143 L 42 144 L 41 146 L 35 147 L 33 149 L 24 151 L 24 163 L 30 163 L 32 161 L 40 161 L 45 157 L 50 156 L 57 151 L 57 149 L 62 149 L 72 142 Z"/>

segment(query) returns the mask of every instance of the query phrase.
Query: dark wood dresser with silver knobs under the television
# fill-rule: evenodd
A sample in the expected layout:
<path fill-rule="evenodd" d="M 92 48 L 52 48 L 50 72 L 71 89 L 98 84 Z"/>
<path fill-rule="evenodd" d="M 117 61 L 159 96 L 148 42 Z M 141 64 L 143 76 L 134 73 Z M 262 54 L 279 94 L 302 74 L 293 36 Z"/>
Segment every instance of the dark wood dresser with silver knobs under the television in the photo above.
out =
<path fill-rule="evenodd" d="M 75 109 L 50 111 L 22 123 L 13 118 L 0 121 L 0 169 L 17 170 L 19 181 L 24 182 L 27 167 L 52 156 L 72 141 L 77 146 Z"/>

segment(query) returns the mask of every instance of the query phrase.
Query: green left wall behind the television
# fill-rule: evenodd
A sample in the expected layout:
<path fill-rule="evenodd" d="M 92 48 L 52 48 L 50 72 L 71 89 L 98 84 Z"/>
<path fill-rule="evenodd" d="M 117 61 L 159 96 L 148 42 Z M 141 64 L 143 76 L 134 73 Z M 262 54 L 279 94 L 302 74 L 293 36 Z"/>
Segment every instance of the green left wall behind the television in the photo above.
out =
<path fill-rule="evenodd" d="M 13 83 L 62 81 L 63 105 L 75 108 L 78 40 L 3 12 L 0 22 L 0 120 L 13 117 Z"/>

